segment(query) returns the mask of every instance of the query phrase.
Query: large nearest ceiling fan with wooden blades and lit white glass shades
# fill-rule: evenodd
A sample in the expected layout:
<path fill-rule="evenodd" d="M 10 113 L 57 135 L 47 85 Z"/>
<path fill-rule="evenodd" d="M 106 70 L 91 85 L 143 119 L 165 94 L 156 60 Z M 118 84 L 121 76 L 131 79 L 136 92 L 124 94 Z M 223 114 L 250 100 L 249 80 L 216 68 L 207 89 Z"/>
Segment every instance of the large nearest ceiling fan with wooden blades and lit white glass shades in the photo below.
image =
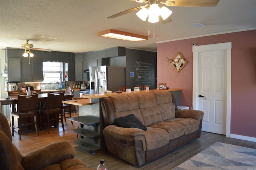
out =
<path fill-rule="evenodd" d="M 122 16 L 124 14 L 128 14 L 130 12 L 139 10 L 139 12 L 137 12 L 136 14 L 140 19 L 145 21 L 146 18 L 148 18 L 148 22 L 152 22 L 152 23 L 158 22 L 160 20 L 163 24 L 165 24 L 172 21 L 170 18 L 170 14 L 172 12 L 170 12 L 170 10 L 165 6 L 211 7 L 211 6 L 216 6 L 220 0 L 132 0 L 132 1 L 139 2 L 139 3 L 147 3 L 147 4 L 145 6 L 138 6 L 129 10 L 125 10 L 123 12 L 119 12 L 118 14 L 114 14 L 112 16 L 109 16 L 108 18 L 116 18 L 118 16 Z M 158 8 L 156 9 L 157 12 L 156 11 L 153 12 L 152 10 L 153 13 L 152 15 L 150 15 L 150 9 L 152 6 L 155 6 L 155 7 L 158 6 Z M 160 14 L 161 10 L 162 12 L 164 12 L 165 10 L 167 14 L 163 14 L 163 15 Z M 154 18 L 152 19 L 152 17 Z"/>

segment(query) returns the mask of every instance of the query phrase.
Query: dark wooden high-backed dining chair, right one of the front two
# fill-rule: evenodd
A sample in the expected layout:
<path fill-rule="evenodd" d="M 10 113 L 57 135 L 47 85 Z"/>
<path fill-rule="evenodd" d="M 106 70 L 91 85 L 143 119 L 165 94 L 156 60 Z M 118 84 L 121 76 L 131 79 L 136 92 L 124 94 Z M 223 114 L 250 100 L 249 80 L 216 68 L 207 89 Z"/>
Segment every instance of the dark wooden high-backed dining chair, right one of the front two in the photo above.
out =
<path fill-rule="evenodd" d="M 62 129 L 63 131 L 65 131 L 64 123 L 63 123 L 63 114 L 62 114 L 63 97 L 64 97 L 64 92 L 48 93 L 46 108 L 40 109 L 40 129 L 42 129 L 43 124 L 46 124 L 48 128 L 48 134 L 50 134 L 50 122 L 54 123 L 53 124 L 54 127 L 56 127 L 57 125 L 56 123 L 61 122 Z M 46 118 L 42 119 L 43 116 Z M 46 120 L 47 122 L 42 122 L 42 120 Z"/>

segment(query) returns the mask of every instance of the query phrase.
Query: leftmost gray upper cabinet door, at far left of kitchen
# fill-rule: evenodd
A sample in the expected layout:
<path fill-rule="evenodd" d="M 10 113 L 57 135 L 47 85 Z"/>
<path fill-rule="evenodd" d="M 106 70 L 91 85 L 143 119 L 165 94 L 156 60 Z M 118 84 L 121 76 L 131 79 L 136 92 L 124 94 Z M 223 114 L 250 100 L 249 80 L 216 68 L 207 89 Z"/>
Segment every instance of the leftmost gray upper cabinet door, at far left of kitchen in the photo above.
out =
<path fill-rule="evenodd" d="M 21 81 L 21 60 L 20 58 L 8 58 L 8 82 Z"/>

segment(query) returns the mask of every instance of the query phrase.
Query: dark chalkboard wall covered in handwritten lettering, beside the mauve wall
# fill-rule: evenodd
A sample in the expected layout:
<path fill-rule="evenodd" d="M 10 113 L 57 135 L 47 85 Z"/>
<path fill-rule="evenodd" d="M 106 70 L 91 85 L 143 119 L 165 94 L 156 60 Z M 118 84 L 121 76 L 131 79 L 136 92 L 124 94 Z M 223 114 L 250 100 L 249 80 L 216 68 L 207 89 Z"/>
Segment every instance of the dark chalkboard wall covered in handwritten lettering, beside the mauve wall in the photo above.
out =
<path fill-rule="evenodd" d="M 157 88 L 156 52 L 126 48 L 126 86 L 134 90 L 138 85 Z M 130 77 L 134 72 L 134 77 Z"/>

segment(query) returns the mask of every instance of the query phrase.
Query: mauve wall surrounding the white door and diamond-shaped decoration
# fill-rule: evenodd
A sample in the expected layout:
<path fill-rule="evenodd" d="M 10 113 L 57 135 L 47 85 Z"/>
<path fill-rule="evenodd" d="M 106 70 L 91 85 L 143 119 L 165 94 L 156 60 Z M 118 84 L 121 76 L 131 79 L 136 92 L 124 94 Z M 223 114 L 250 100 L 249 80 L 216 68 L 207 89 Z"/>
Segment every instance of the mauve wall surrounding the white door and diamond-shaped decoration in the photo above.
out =
<path fill-rule="evenodd" d="M 192 106 L 192 43 L 199 45 L 232 42 L 231 134 L 256 137 L 256 30 L 191 38 L 157 44 L 158 83 L 181 88 L 181 105 Z M 167 64 L 180 52 L 188 64 L 180 71 Z M 165 56 L 166 55 L 166 56 Z"/>

